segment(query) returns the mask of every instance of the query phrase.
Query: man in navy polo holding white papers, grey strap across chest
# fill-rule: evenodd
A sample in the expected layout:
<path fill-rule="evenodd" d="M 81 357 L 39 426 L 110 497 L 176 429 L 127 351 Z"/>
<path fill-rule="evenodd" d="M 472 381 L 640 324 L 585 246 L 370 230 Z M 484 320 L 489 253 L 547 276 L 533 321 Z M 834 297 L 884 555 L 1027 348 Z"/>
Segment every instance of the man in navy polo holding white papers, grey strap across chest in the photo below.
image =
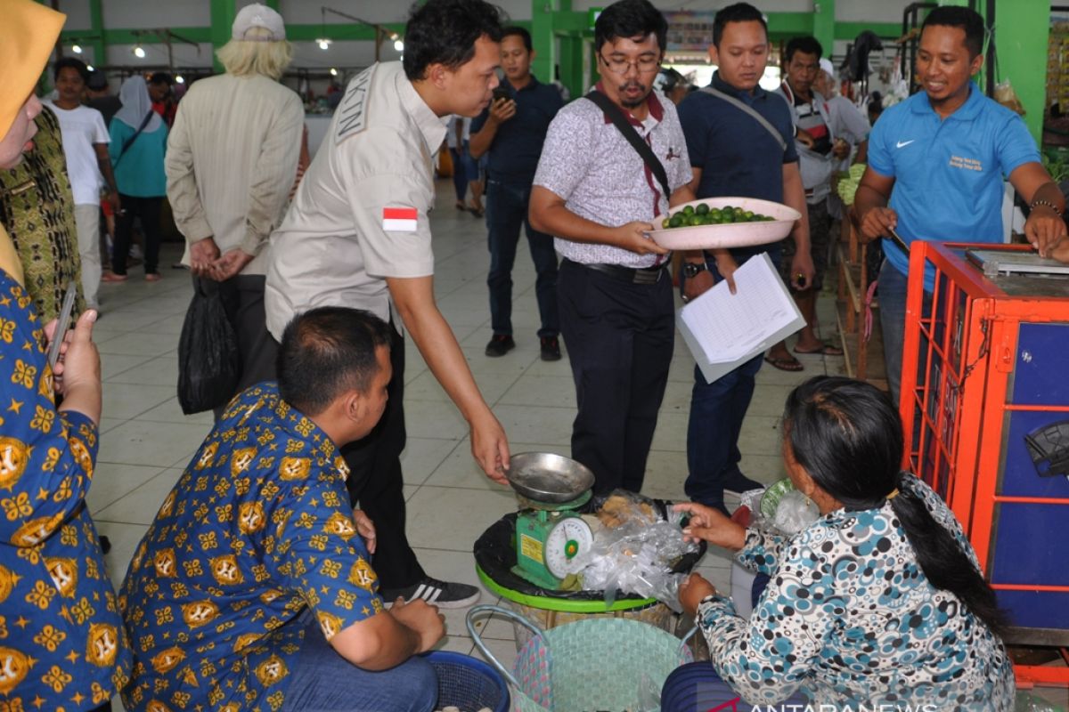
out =
<path fill-rule="evenodd" d="M 718 66 L 712 83 L 692 92 L 679 106 L 694 173 L 691 187 L 699 199 L 758 197 L 786 203 L 801 212 L 802 220 L 792 233 L 799 249 L 791 265 L 793 286 L 799 288 L 814 274 L 805 190 L 790 108 L 781 96 L 758 85 L 769 59 L 768 26 L 760 11 L 740 2 L 717 12 L 709 54 Z M 775 243 L 722 250 L 715 256 L 688 252 L 683 263 L 683 295 L 693 299 L 717 279 L 730 280 L 739 264 L 761 252 L 768 252 L 776 265 L 780 250 Z M 707 383 L 695 367 L 686 432 L 690 474 L 684 489 L 691 500 L 725 513 L 725 489 L 741 492 L 761 487 L 739 469 L 739 431 L 760 368 L 758 355 Z"/>

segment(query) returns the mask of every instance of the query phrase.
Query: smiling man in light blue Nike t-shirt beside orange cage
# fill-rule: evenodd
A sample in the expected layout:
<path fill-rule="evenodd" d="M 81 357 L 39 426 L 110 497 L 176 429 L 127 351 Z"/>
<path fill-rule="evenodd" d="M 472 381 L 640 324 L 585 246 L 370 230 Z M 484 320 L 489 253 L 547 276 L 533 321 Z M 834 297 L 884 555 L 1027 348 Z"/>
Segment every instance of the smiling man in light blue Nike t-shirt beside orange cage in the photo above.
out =
<path fill-rule="evenodd" d="M 1039 254 L 1050 256 L 1065 238 L 1065 200 L 1024 122 L 971 81 L 983 62 L 983 20 L 965 7 L 938 7 L 925 19 L 916 66 L 925 91 L 885 111 L 869 137 L 855 197 L 864 239 L 896 230 L 907 243 L 1001 242 L 1004 176 L 1031 207 L 1024 232 Z M 887 239 L 883 249 L 883 349 L 897 402 L 909 256 Z"/>

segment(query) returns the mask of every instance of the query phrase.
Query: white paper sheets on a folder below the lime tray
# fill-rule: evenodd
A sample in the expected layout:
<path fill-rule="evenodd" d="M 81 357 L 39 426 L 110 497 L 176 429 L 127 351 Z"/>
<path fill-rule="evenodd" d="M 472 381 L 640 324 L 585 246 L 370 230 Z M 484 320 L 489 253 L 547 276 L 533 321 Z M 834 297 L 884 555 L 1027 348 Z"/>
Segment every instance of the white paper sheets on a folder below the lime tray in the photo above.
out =
<path fill-rule="evenodd" d="M 679 330 L 709 383 L 805 326 L 766 253 L 735 270 L 734 283 L 735 294 L 721 281 L 677 315 Z"/>

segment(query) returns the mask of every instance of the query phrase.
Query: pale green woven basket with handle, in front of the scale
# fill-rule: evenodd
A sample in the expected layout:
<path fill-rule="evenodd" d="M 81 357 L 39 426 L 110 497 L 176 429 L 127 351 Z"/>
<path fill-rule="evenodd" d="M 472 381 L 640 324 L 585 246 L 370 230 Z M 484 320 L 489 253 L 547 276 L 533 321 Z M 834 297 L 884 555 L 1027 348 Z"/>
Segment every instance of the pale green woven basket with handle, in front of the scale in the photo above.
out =
<path fill-rule="evenodd" d="M 475 619 L 496 613 L 530 628 L 534 636 L 507 670 L 483 644 Z M 660 695 L 668 675 L 693 660 L 676 636 L 648 623 L 593 618 L 543 631 L 495 605 L 471 608 L 468 633 L 486 660 L 509 681 L 514 712 L 644 710 L 640 687 Z M 655 710 L 655 706 L 648 706 Z"/>

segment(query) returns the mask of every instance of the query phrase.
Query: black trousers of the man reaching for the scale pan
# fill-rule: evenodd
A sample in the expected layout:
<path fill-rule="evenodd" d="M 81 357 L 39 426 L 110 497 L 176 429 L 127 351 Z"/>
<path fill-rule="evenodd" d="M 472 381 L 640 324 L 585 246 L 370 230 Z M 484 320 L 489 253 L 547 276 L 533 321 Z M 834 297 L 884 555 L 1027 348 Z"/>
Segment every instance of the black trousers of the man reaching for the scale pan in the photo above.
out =
<path fill-rule="evenodd" d="M 427 574 L 405 533 L 406 506 L 401 453 L 407 438 L 404 427 L 404 337 L 390 325 L 393 343 L 390 364 L 393 378 L 387 386 L 386 411 L 366 438 L 341 449 L 348 465 L 345 486 L 353 506 L 375 524 L 376 549 L 371 566 L 382 588 L 404 588 Z"/>

